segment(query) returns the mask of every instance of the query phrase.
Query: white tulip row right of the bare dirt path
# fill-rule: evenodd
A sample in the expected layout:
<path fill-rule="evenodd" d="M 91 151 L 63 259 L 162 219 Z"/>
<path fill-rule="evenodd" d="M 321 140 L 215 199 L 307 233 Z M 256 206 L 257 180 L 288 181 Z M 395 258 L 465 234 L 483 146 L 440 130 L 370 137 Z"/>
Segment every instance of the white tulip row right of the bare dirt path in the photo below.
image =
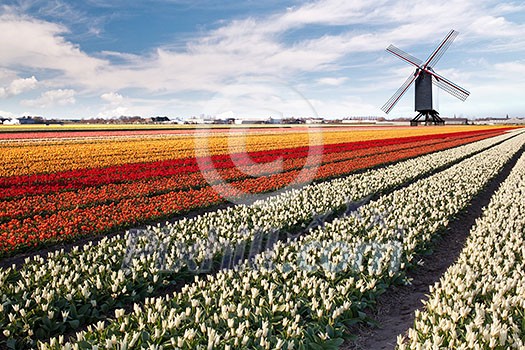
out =
<path fill-rule="evenodd" d="M 525 348 L 525 156 L 430 290 L 399 349 Z"/>

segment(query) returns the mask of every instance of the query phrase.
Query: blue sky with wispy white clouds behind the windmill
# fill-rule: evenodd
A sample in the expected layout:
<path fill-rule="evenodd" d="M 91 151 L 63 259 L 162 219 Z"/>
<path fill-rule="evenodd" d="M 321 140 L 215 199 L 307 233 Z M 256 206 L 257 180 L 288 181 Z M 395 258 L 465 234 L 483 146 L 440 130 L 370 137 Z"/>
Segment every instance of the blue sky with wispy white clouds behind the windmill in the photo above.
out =
<path fill-rule="evenodd" d="M 525 2 L 1 0 L 0 116 L 412 117 L 425 60 L 470 91 L 443 116 L 525 117 Z"/>

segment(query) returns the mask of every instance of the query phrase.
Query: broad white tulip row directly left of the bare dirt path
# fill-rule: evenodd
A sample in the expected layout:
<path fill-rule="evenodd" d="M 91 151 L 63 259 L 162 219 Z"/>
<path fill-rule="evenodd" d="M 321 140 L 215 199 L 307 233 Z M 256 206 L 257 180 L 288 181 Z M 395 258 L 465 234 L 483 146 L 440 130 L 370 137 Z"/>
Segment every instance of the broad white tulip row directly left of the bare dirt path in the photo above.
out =
<path fill-rule="evenodd" d="M 241 266 L 195 277 L 172 296 L 117 309 L 112 320 L 88 326 L 74 341 L 53 338 L 39 347 L 336 348 L 346 327 L 364 318 L 361 310 L 524 143 L 520 135 L 297 240 L 278 242 Z"/>

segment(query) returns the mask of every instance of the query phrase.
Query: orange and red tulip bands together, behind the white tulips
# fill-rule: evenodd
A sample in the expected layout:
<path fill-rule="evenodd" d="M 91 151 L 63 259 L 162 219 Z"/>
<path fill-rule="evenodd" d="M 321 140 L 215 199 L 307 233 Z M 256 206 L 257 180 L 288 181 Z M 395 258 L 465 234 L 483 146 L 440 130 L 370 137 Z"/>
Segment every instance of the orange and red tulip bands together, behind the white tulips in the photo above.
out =
<path fill-rule="evenodd" d="M 248 137 L 218 134 L 207 142 L 207 164 L 195 158 L 198 137 L 187 135 L 8 138 L 0 143 L 0 256 L 218 204 L 223 199 L 211 186 L 214 182 L 228 182 L 228 197 L 242 197 L 292 181 L 300 185 L 342 176 L 503 131 L 330 131 L 314 140 L 322 144 L 313 145 L 304 131 L 288 132 L 284 141 L 269 132 Z M 247 154 L 235 153 L 243 149 Z M 316 166 L 309 171 L 305 163 L 307 158 L 312 163 L 312 154 Z M 275 159 L 282 159 L 279 172 L 266 164 Z M 214 172 L 207 175 L 210 169 Z"/>

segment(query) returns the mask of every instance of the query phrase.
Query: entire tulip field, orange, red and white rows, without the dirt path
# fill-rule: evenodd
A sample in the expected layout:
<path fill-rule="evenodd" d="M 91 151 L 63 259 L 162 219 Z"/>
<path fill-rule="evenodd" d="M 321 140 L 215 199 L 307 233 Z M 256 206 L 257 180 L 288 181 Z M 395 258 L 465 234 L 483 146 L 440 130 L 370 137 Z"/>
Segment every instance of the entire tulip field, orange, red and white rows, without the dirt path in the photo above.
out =
<path fill-rule="evenodd" d="M 516 157 L 397 346 L 525 346 L 524 129 L 15 135 L 0 348 L 337 349 Z"/>

